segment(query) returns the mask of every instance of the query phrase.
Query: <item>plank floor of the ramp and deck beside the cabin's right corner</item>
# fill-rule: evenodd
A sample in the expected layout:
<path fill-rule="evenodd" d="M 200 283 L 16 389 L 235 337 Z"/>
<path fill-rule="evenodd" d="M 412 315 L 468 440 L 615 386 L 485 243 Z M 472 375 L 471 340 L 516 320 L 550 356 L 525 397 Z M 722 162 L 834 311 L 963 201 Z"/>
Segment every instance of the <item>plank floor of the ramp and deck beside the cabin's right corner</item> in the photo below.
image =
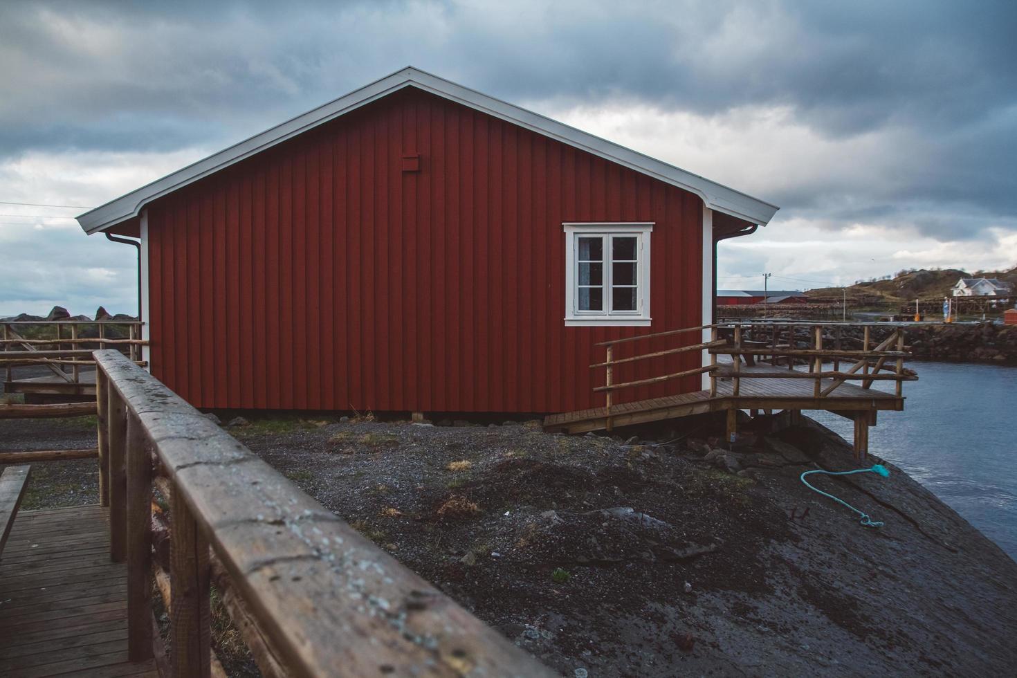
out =
<path fill-rule="evenodd" d="M 828 410 L 830 412 L 858 412 L 874 410 L 903 410 L 902 397 L 877 388 L 862 388 L 843 383 L 829 395 L 815 396 L 814 379 L 753 379 L 752 374 L 786 372 L 787 368 L 772 365 L 742 365 L 739 394 L 731 395 L 733 380 L 717 380 L 717 394 L 708 390 L 680 393 L 648 400 L 619 403 L 611 407 L 612 426 L 631 426 L 647 422 L 687 417 L 724 410 Z M 833 384 L 833 379 L 823 379 L 821 388 Z M 607 427 L 605 408 L 550 415 L 544 420 L 549 430 L 570 433 L 597 431 Z"/>

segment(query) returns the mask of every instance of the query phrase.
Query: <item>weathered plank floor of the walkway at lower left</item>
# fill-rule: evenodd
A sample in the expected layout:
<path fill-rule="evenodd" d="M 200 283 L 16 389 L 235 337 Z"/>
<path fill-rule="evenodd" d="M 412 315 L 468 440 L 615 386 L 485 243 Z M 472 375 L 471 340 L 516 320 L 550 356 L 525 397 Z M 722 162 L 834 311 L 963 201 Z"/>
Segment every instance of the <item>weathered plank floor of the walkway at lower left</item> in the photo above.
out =
<path fill-rule="evenodd" d="M 106 509 L 19 511 L 0 554 L 0 676 L 158 676 L 127 661 L 127 567 Z"/>

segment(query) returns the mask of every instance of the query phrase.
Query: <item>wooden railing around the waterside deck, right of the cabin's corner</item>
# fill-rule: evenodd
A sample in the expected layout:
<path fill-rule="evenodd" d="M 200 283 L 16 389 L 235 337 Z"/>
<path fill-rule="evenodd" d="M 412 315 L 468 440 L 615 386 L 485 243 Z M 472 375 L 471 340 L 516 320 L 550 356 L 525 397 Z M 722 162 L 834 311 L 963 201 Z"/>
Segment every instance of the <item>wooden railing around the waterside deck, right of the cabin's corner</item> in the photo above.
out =
<path fill-rule="evenodd" d="M 860 338 L 846 335 L 845 329 L 860 327 Z M 812 379 L 813 397 L 827 397 L 847 381 L 860 381 L 862 388 L 870 388 L 874 381 L 896 382 L 895 394 L 902 396 L 904 381 L 913 381 L 917 376 L 904 370 L 904 359 L 910 356 L 905 351 L 904 327 L 889 325 L 889 334 L 873 346 L 873 327 L 887 327 L 881 323 L 815 323 L 815 322 L 765 322 L 737 321 L 721 323 L 719 330 L 727 335 L 725 346 L 714 347 L 710 353 L 731 357 L 729 367 L 718 370 L 714 379 L 729 377 L 732 381 L 731 395 L 740 395 L 741 379 Z M 811 345 L 799 349 L 798 344 Z M 851 344 L 858 349 L 845 349 Z M 832 346 L 831 346 L 832 345 Z M 894 371 L 881 374 L 892 362 Z M 769 362 L 773 366 L 785 363 L 787 370 L 753 371 L 741 369 L 742 362 L 753 365 Z M 806 371 L 795 369 L 796 364 L 805 363 Z M 851 362 L 846 370 L 840 369 L 841 362 Z M 832 370 L 824 365 L 833 363 Z M 831 383 L 824 386 L 823 380 Z"/>

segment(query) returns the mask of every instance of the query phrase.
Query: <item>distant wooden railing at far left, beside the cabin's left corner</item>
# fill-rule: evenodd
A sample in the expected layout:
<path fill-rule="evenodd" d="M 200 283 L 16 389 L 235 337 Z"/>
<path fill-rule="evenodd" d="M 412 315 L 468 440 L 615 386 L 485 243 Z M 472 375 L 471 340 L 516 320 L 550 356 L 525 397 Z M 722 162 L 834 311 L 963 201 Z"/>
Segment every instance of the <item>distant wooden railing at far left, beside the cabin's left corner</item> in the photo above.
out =
<path fill-rule="evenodd" d="M 45 365 L 61 380 L 80 383 L 82 367 L 95 365 L 92 353 L 96 348 L 119 348 L 139 365 L 141 322 L 137 320 L 10 320 L 0 323 L 0 366 L 11 381 L 11 371 L 17 366 Z M 81 336 L 86 327 L 96 327 L 98 336 Z M 127 328 L 126 337 L 107 336 L 111 328 Z M 27 329 L 33 335 L 25 336 Z"/>

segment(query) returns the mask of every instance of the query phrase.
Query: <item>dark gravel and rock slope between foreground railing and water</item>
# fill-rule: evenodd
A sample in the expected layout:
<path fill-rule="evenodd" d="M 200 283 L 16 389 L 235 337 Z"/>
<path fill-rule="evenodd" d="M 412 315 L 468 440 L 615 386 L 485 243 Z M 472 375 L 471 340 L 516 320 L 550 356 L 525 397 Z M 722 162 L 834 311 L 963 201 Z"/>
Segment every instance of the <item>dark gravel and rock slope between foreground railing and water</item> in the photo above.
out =
<path fill-rule="evenodd" d="M 891 465 L 885 480 L 817 481 L 885 520 L 878 531 L 812 493 L 802 471 L 857 465 L 807 420 L 734 453 L 694 438 L 550 435 L 538 422 L 293 419 L 231 432 L 566 676 L 1017 666 L 1017 564 Z"/>

